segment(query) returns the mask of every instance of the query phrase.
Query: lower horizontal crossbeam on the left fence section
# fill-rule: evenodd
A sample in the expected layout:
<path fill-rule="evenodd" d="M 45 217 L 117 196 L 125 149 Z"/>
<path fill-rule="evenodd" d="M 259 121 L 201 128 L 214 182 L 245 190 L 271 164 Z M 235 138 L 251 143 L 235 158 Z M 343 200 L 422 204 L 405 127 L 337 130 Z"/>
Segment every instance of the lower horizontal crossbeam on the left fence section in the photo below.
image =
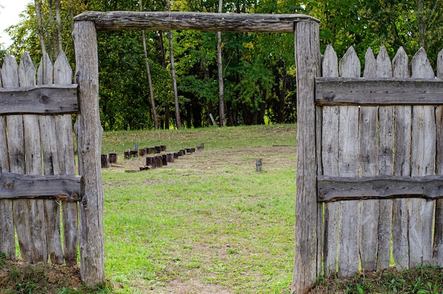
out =
<path fill-rule="evenodd" d="M 81 200 L 81 176 L 40 176 L 0 173 L 0 199 L 57 198 L 64 201 Z"/>

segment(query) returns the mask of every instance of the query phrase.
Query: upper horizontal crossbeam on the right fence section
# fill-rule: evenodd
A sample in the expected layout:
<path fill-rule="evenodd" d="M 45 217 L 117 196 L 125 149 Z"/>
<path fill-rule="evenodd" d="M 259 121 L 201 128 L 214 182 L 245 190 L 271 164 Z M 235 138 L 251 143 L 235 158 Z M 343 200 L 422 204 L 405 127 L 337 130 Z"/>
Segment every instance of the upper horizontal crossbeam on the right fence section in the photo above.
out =
<path fill-rule="evenodd" d="M 442 79 L 316 78 L 319 105 L 442 105 Z"/>

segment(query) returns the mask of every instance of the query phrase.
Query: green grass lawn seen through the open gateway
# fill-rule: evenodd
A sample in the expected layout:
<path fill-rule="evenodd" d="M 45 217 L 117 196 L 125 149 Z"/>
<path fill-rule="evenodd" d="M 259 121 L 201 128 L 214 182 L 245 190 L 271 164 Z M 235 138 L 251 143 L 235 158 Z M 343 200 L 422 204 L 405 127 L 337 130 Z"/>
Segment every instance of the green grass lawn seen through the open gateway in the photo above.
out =
<path fill-rule="evenodd" d="M 112 132 L 104 142 L 105 152 L 205 143 L 161 169 L 123 171 L 144 158 L 103 169 L 105 266 L 116 293 L 288 290 L 296 125 Z"/>

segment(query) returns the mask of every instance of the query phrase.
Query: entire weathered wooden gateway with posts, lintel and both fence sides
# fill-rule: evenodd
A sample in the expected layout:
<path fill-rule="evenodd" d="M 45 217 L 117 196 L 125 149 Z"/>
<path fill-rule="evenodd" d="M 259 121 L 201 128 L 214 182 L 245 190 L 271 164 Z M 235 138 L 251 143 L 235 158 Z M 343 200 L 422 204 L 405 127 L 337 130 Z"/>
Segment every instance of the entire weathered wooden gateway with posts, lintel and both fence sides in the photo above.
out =
<path fill-rule="evenodd" d="M 443 266 L 443 53 L 436 79 L 424 50 L 413 57 L 411 75 L 403 49 L 392 62 L 383 47 L 376 58 L 368 50 L 361 78 L 352 47 L 340 64 L 330 46 L 321 56 L 318 20 L 310 16 L 88 11 L 74 21 L 77 86 L 69 73 L 52 81 L 47 56 L 37 83 L 27 55 L 20 67 L 12 57 L 1 67 L 0 99 L 8 104 L 0 106 L 0 251 L 8 258 L 15 256 L 15 227 L 23 258 L 76 262 L 78 208 L 81 279 L 103 283 L 97 30 L 193 29 L 294 33 L 299 123 L 292 293 L 307 293 L 316 276 L 351 276 L 359 264 L 363 271 L 387 268 L 391 242 L 401 268 Z M 40 81 L 51 86 L 35 86 Z M 65 114 L 76 112 L 79 176 Z M 58 183 L 42 184 L 50 181 Z M 63 252 L 59 223 L 45 220 L 57 215 L 58 200 L 64 226 L 72 227 L 64 227 L 71 233 Z"/>

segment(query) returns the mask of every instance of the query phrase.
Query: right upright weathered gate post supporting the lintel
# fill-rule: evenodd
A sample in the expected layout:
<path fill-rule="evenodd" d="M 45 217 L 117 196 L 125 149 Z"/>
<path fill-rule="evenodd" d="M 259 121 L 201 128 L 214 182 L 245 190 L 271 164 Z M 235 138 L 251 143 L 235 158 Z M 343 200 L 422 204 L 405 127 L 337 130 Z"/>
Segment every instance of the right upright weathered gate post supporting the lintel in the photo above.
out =
<path fill-rule="evenodd" d="M 320 74 L 318 23 L 295 27 L 297 67 L 297 202 L 292 293 L 308 293 L 317 274 L 315 77 Z"/>

